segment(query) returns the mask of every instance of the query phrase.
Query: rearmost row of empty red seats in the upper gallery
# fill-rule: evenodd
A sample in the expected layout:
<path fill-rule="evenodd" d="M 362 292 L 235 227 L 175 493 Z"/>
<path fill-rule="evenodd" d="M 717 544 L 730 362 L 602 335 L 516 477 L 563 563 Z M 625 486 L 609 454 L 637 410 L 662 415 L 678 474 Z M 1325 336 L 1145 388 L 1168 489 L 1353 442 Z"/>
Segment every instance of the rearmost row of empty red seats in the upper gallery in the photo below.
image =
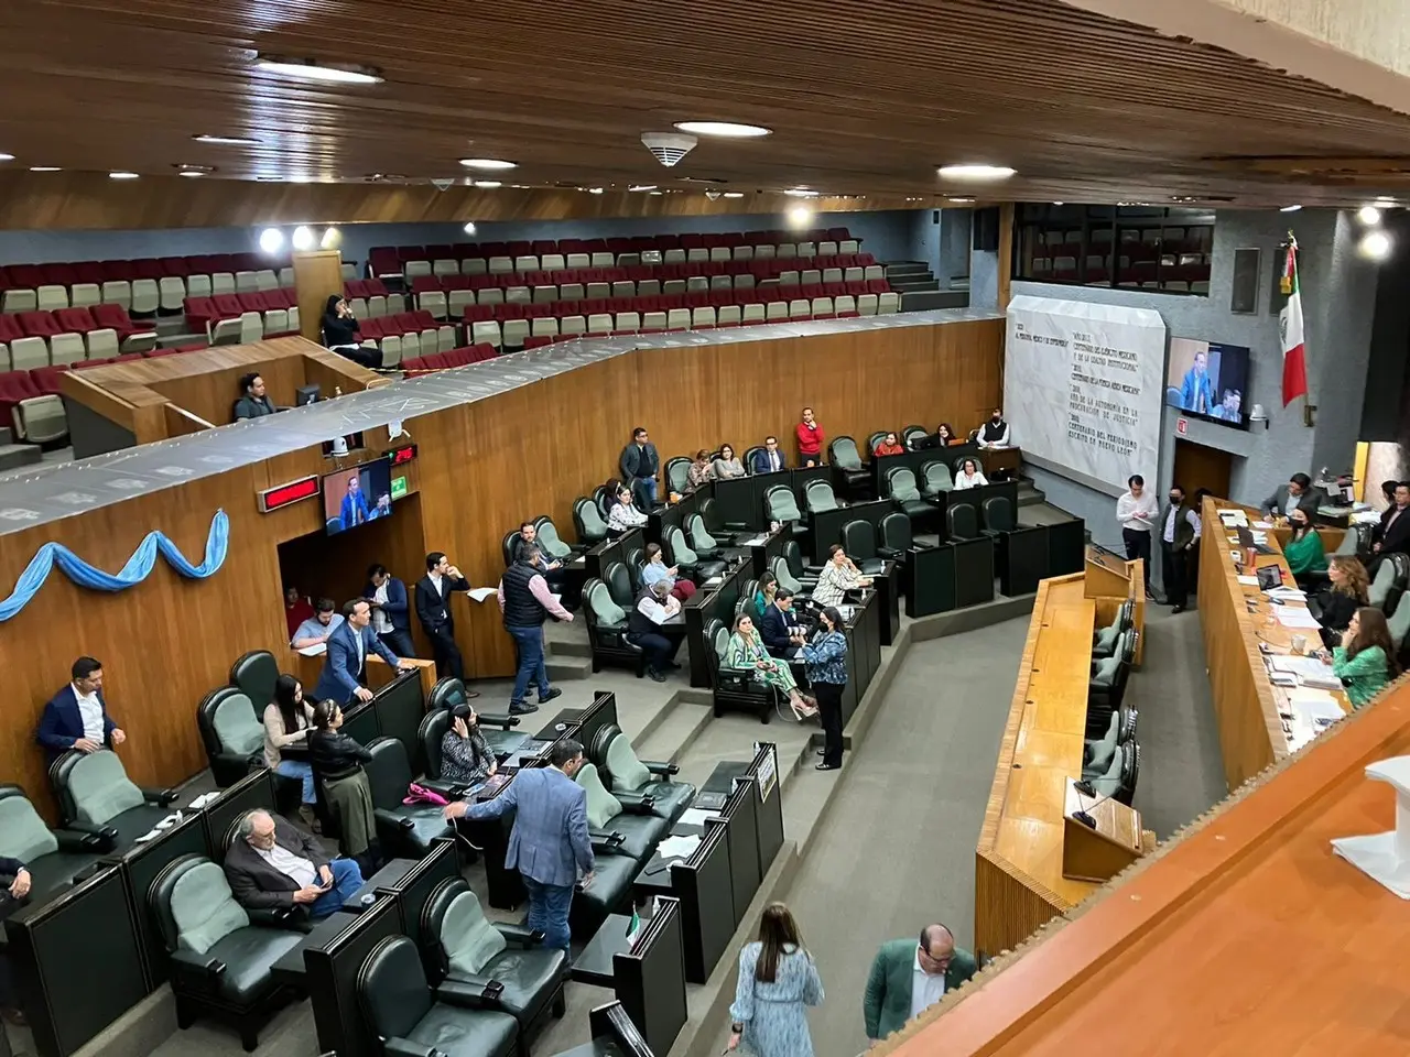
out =
<path fill-rule="evenodd" d="M 847 228 L 814 231 L 730 231 L 721 234 L 636 235 L 630 238 L 564 238 L 517 242 L 457 242 L 416 247 L 374 247 L 372 278 L 534 272 L 550 268 L 611 268 L 618 264 L 746 261 L 773 256 L 854 254 L 860 240 Z"/>

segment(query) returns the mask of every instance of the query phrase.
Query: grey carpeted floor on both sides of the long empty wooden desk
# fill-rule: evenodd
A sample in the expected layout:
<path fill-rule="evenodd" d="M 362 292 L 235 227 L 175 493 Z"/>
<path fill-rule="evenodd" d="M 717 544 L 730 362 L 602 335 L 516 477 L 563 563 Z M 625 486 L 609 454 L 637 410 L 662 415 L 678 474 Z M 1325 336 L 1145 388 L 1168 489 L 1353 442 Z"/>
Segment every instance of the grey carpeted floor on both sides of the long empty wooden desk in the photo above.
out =
<path fill-rule="evenodd" d="M 971 944 L 974 846 L 1026 631 L 1010 620 L 914 647 L 814 834 L 788 903 L 828 992 L 809 1016 L 819 1057 L 866 1049 L 881 941 L 939 920 Z M 1148 607 L 1127 693 L 1141 707 L 1136 808 L 1165 837 L 1224 796 L 1197 614 Z"/>

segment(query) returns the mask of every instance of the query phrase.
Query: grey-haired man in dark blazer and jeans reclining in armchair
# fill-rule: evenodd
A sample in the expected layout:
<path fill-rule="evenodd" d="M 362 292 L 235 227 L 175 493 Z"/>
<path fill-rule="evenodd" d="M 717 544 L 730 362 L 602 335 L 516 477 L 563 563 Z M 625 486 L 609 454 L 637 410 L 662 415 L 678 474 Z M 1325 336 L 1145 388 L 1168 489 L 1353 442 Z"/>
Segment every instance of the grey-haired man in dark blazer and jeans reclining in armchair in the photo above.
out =
<path fill-rule="evenodd" d="M 306 906 L 317 922 L 362 886 L 362 871 L 351 858 L 330 861 L 317 839 L 292 823 L 254 810 L 226 853 L 226 879 L 247 910 Z"/>

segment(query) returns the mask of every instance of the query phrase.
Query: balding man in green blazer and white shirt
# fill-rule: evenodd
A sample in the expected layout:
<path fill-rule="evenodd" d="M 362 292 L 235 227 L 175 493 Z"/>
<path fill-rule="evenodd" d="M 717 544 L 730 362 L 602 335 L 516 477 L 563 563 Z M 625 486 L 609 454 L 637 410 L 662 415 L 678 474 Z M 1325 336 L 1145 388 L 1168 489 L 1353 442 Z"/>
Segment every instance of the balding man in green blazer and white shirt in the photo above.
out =
<path fill-rule="evenodd" d="M 867 1039 L 885 1039 L 912 1016 L 935 1005 L 977 971 L 974 956 L 955 946 L 943 925 L 926 925 L 921 941 L 883 943 L 871 963 L 862 1002 Z"/>

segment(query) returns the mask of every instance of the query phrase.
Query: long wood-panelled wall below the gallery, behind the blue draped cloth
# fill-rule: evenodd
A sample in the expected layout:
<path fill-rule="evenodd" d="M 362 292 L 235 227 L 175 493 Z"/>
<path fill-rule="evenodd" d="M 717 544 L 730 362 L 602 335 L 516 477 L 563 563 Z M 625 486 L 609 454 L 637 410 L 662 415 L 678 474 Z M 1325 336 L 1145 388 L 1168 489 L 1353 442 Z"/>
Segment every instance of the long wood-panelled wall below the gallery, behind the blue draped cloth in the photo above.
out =
<path fill-rule="evenodd" d="M 49 540 L 116 571 L 148 530 L 161 528 L 199 561 L 214 512 L 224 507 L 231 519 L 230 557 L 209 581 L 183 581 L 158 564 L 142 585 L 104 595 L 56 572 L 0 629 L 13 672 L 0 713 L 0 777 L 37 795 L 47 788 L 34 724 L 85 653 L 106 665 L 113 713 L 131 736 L 120 751 L 137 781 L 175 782 L 204 767 L 196 703 L 224 684 L 245 650 L 285 653 L 281 557 L 300 589 L 340 600 L 357 592 L 372 561 L 415 582 L 431 550 L 450 554 L 475 586 L 494 586 L 503 571 L 503 533 L 548 513 L 571 538 L 572 500 L 616 475 L 636 424 L 651 431 L 664 461 L 719 440 L 743 451 L 767 433 L 787 438 L 804 403 L 832 435 L 940 419 L 973 423 L 997 399 L 1001 348 L 1003 321 L 984 320 L 625 354 L 407 420 L 419 457 L 405 472 L 419 497 L 399 505 L 386 526 L 336 541 L 323 536 L 319 502 L 259 514 L 255 495 L 372 458 L 386 450 L 386 430 L 368 431 L 368 448 L 337 462 L 319 448 L 288 452 L 11 534 L 0 548 L 6 585 Z M 494 600 L 454 605 L 472 675 L 509 674 L 513 647 Z"/>

